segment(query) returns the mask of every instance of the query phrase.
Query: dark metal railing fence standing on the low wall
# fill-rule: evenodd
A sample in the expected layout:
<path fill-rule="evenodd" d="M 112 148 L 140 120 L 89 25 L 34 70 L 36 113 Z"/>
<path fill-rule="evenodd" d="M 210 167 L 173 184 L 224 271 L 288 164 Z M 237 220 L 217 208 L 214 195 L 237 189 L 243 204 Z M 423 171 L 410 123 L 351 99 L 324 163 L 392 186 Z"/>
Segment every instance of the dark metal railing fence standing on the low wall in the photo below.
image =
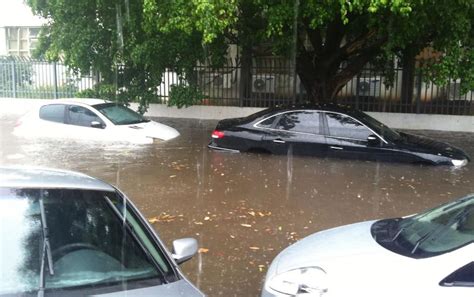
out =
<path fill-rule="evenodd" d="M 474 91 L 462 93 L 460 81 L 437 86 L 424 81 L 418 70 L 407 95 L 402 94 L 402 69 L 394 72 L 389 86 L 386 77 L 366 68 L 341 89 L 336 101 L 365 111 L 474 115 Z M 197 65 L 194 78 L 203 105 L 269 107 L 307 100 L 294 67 L 284 58 L 254 58 L 247 71 L 238 59 L 221 67 Z M 61 63 L 0 57 L 0 97 L 74 97 L 96 83 L 96 77 L 73 73 Z M 176 73 L 166 71 L 154 102 L 167 103 L 171 87 L 179 83 Z"/>

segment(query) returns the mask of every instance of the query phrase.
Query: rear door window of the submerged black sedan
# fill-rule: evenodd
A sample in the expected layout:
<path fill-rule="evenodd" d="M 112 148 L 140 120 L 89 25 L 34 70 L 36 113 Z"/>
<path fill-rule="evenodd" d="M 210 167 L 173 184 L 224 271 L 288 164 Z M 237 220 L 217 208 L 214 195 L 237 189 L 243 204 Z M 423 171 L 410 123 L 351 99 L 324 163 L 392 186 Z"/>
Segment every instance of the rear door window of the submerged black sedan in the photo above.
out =
<path fill-rule="evenodd" d="M 315 111 L 284 113 L 280 116 L 275 129 L 319 134 L 319 113 Z"/>

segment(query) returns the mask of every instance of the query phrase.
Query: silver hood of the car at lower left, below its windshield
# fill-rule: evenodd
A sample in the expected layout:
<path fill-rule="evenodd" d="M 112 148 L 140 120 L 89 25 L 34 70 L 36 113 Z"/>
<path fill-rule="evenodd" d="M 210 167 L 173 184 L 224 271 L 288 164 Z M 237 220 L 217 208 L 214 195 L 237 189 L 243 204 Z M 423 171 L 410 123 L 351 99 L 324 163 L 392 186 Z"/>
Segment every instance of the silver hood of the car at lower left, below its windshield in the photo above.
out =
<path fill-rule="evenodd" d="M 91 297 L 126 297 L 126 296 L 163 296 L 163 297 L 202 297 L 204 294 L 199 292 L 186 280 L 179 280 L 169 284 L 152 286 L 134 290 L 119 291 L 113 293 L 89 295 Z"/>

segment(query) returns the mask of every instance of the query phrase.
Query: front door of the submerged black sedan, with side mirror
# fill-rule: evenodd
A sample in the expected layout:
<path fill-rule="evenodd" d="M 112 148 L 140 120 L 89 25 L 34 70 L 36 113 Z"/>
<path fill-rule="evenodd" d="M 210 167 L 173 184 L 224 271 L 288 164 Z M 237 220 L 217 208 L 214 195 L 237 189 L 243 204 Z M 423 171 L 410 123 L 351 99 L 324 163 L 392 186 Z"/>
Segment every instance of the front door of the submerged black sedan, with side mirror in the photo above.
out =
<path fill-rule="evenodd" d="M 336 112 L 325 112 L 325 135 L 328 156 L 337 158 L 377 160 L 383 140 L 354 118 Z M 369 143 L 369 136 L 374 137 Z M 387 151 L 388 153 L 388 151 Z"/>

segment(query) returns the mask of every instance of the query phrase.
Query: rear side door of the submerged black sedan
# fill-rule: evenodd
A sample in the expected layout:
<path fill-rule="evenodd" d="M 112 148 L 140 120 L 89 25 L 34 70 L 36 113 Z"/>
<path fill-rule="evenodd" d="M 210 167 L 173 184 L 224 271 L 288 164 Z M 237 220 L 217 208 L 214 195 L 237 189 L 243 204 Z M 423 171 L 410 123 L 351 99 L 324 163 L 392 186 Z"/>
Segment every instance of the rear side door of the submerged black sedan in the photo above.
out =
<path fill-rule="evenodd" d="M 273 153 L 324 156 L 326 143 L 321 122 L 318 111 L 285 112 L 278 116 L 264 141 Z"/>

